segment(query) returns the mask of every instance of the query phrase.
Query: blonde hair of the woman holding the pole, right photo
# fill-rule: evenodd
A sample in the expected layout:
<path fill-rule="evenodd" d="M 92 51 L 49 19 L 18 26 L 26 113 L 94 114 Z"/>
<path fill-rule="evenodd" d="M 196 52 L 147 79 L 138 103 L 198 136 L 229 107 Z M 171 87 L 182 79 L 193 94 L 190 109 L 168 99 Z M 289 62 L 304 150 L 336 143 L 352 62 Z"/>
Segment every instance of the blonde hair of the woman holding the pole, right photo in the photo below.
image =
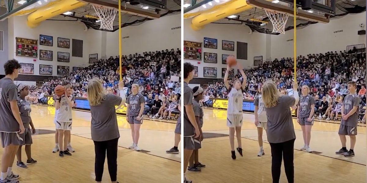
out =
<path fill-rule="evenodd" d="M 280 92 L 273 81 L 265 81 L 261 89 L 262 100 L 266 108 L 275 107 L 278 104 Z"/>

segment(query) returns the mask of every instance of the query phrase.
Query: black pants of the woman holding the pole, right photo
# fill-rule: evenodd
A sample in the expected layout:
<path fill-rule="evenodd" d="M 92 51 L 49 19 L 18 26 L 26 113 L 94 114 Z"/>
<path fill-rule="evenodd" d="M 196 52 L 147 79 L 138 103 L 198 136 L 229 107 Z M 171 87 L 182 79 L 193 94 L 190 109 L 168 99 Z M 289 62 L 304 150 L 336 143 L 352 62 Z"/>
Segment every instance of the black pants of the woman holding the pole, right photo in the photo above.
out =
<path fill-rule="evenodd" d="M 270 143 L 272 149 L 273 183 L 279 183 L 282 156 L 288 183 L 294 183 L 293 147 L 295 139 L 282 143 Z"/>

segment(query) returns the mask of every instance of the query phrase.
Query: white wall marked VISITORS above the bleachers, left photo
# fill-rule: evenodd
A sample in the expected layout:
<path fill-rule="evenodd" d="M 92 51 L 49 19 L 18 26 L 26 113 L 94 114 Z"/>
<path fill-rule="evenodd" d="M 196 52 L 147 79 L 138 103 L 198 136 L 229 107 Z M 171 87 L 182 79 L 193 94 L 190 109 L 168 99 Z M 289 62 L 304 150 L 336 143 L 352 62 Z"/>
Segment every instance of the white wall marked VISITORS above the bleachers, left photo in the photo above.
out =
<path fill-rule="evenodd" d="M 149 20 L 138 26 L 122 28 L 122 54 L 165 49 L 181 49 L 181 14 Z M 108 32 L 106 55 L 119 55 L 119 31 Z"/>

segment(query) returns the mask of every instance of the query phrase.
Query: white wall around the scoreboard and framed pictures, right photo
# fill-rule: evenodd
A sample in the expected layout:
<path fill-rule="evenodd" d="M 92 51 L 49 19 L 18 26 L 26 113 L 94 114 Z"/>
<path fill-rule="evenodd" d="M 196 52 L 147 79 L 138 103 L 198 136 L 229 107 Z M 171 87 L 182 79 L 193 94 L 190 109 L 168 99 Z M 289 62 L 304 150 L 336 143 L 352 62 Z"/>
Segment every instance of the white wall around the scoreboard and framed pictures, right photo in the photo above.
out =
<path fill-rule="evenodd" d="M 222 68 L 227 67 L 226 64 L 222 64 L 222 54 L 235 55 L 235 57 L 237 57 L 237 41 L 247 42 L 247 60 L 237 60 L 243 65 L 243 67 L 253 66 L 255 56 L 262 56 L 263 60 L 266 60 L 267 57 L 270 57 L 270 55 L 266 55 L 266 53 L 269 52 L 267 51 L 267 49 L 270 49 L 270 47 L 268 48 L 266 46 L 266 34 L 249 34 L 249 27 L 214 23 L 206 25 L 203 29 L 199 31 L 194 31 L 190 27 L 191 20 L 192 19 L 183 20 L 183 40 L 202 42 L 203 57 L 204 52 L 217 53 L 218 56 L 217 63 L 205 63 L 203 59 L 200 61 L 200 64 L 198 64 L 199 60 L 184 59 L 184 62 L 190 62 L 194 66 L 198 67 L 198 78 L 204 77 L 204 67 L 217 68 L 217 78 L 222 78 Z M 204 37 L 217 39 L 218 49 L 204 48 Z M 222 50 L 222 40 L 234 41 L 235 51 Z"/>

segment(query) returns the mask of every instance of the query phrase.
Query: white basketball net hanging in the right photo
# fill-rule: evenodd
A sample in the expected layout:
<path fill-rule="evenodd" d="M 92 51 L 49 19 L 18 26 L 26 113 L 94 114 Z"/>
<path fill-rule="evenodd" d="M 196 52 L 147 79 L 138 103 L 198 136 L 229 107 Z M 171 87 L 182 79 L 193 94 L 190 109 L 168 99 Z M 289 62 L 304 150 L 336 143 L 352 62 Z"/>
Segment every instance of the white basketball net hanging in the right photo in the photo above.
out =
<path fill-rule="evenodd" d="M 266 15 L 268 15 L 270 21 L 273 23 L 273 33 L 285 34 L 284 30 L 288 20 L 288 14 L 279 13 L 275 11 L 265 10 Z"/>

